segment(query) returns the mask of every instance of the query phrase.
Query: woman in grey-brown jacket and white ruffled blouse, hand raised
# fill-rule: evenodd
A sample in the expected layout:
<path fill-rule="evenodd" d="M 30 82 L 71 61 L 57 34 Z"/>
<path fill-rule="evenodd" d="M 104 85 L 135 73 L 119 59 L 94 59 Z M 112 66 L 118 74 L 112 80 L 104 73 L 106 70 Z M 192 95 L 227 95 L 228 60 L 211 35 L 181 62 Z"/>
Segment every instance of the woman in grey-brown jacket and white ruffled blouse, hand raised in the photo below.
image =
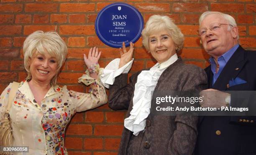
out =
<path fill-rule="evenodd" d="M 120 49 L 116 59 L 104 69 L 101 80 L 110 87 L 109 107 L 128 109 L 120 143 L 120 155 L 189 155 L 197 137 L 197 117 L 163 116 L 151 113 L 151 92 L 200 90 L 207 84 L 204 70 L 184 64 L 178 58 L 184 43 L 180 29 L 168 16 L 153 15 L 142 31 L 143 46 L 157 63 L 130 77 L 133 43 L 129 51 Z M 170 114 L 171 115 L 171 114 Z"/>

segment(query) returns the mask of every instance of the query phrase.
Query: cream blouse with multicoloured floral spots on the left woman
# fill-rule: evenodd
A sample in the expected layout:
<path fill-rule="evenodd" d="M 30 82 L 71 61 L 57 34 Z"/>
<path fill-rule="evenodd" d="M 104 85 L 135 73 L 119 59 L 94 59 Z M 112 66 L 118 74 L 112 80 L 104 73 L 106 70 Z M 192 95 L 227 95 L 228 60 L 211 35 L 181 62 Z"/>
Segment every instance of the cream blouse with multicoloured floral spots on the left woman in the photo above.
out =
<path fill-rule="evenodd" d="M 28 82 L 22 81 L 10 109 L 13 146 L 28 146 L 29 155 L 67 155 L 64 137 L 72 116 L 108 100 L 98 81 L 83 75 L 79 82 L 91 84 L 88 94 L 68 90 L 67 86 L 52 86 L 39 105 Z M 0 96 L 0 121 L 4 119 L 11 85 Z"/>

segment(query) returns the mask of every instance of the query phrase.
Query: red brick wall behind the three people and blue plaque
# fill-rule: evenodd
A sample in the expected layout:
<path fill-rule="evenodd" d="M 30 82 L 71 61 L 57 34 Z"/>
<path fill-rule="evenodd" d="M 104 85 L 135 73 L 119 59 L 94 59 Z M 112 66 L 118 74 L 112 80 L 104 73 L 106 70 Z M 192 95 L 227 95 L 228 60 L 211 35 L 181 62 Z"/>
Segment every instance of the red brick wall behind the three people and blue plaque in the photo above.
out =
<path fill-rule="evenodd" d="M 202 68 L 209 65 L 209 56 L 201 48 L 196 35 L 198 18 L 207 10 L 232 15 L 238 23 L 241 45 L 246 49 L 256 49 L 256 0 L 119 1 L 135 6 L 145 21 L 153 14 L 172 17 L 185 35 L 181 57 L 186 63 Z M 58 82 L 75 91 L 86 91 L 85 86 L 77 84 L 77 78 L 85 69 L 83 53 L 98 46 L 102 51 L 102 67 L 119 57 L 118 49 L 105 46 L 95 34 L 97 13 L 108 4 L 103 0 L 1 0 L 0 92 L 8 83 L 26 77 L 22 54 L 26 36 L 35 30 L 49 31 L 55 28 L 69 48 Z M 135 43 L 134 58 L 130 75 L 156 62 L 142 48 L 141 39 Z M 67 130 L 66 146 L 69 154 L 116 155 L 124 118 L 124 111 L 114 112 L 108 105 L 76 114 Z"/>

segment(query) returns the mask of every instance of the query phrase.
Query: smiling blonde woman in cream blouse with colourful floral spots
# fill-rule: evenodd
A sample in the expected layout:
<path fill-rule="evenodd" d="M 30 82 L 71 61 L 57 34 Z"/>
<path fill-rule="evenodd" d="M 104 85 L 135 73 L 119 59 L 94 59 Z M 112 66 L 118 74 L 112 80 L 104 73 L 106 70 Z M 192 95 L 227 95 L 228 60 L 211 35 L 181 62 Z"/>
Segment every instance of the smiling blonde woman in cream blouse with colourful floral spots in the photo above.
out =
<path fill-rule="evenodd" d="M 84 54 L 88 70 L 79 83 L 90 85 L 88 94 L 56 84 L 67 46 L 55 31 L 36 31 L 29 35 L 23 53 L 28 77 L 19 84 L 10 108 L 13 146 L 29 147 L 26 155 L 67 155 L 64 137 L 72 116 L 107 102 L 105 89 L 96 80 L 101 52 L 91 48 L 88 58 Z M 4 118 L 11 86 L 12 83 L 0 96 L 0 121 Z"/>

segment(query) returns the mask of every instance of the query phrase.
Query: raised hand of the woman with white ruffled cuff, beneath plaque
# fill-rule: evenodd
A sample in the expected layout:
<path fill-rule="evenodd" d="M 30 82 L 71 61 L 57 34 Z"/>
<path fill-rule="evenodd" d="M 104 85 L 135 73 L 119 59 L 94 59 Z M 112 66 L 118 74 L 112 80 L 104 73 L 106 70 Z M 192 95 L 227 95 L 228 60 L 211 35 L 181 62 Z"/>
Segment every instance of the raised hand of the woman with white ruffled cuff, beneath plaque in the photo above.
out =
<path fill-rule="evenodd" d="M 126 51 L 125 43 L 123 42 L 123 50 L 122 48 L 119 48 L 120 51 L 120 63 L 119 63 L 119 69 L 123 67 L 125 64 L 127 64 L 129 61 L 133 58 L 133 43 L 130 43 L 130 49 L 129 51 Z"/>

